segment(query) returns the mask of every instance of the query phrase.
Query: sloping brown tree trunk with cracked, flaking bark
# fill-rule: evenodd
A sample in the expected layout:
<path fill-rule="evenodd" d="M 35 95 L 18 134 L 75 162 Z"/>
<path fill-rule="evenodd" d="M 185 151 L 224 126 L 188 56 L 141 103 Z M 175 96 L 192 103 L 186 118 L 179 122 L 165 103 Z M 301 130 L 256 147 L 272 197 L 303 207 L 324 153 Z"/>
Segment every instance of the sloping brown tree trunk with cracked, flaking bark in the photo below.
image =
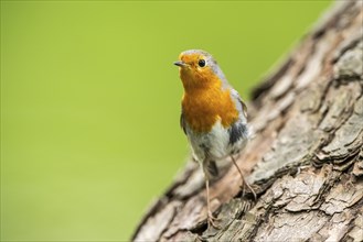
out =
<path fill-rule="evenodd" d="M 363 3 L 339 1 L 255 89 L 255 130 L 211 185 L 221 230 L 206 228 L 203 175 L 188 162 L 134 241 L 363 241 Z M 229 168 L 231 167 L 231 168 Z"/>

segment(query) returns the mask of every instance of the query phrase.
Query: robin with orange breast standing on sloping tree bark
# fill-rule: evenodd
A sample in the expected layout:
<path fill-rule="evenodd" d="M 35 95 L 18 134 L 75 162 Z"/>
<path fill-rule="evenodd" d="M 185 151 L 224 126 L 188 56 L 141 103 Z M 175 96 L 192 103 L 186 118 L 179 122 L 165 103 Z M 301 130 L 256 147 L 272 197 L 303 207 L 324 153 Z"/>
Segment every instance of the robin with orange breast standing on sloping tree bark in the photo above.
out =
<path fill-rule="evenodd" d="M 203 172 L 206 190 L 207 224 L 218 228 L 211 211 L 210 179 L 218 174 L 216 162 L 231 157 L 256 199 L 256 193 L 244 179 L 235 155 L 250 138 L 247 107 L 228 84 L 217 62 L 202 50 L 189 50 L 173 63 L 183 85 L 180 125 L 192 150 L 192 157 Z"/>

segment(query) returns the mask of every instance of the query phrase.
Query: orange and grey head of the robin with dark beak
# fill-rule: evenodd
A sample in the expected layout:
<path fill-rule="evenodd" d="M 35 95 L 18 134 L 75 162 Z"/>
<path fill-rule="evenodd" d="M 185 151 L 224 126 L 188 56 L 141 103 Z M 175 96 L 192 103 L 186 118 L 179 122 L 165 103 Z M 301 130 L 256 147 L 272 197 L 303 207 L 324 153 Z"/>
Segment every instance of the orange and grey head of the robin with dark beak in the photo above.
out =
<path fill-rule="evenodd" d="M 216 81 L 221 82 L 225 79 L 212 55 L 201 50 L 182 52 L 174 65 L 179 66 L 185 91 L 215 85 Z"/>

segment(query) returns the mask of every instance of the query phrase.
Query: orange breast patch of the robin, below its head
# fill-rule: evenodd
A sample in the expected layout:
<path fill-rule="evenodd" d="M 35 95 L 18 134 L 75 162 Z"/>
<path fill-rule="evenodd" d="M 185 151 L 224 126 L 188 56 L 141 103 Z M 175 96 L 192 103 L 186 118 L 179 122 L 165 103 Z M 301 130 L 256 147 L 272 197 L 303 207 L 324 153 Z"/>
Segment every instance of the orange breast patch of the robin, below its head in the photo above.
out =
<path fill-rule="evenodd" d="M 185 121 L 194 132 L 209 132 L 217 120 L 228 128 L 238 119 L 229 90 L 222 90 L 221 80 L 211 81 L 202 88 L 185 90 L 182 100 Z"/>

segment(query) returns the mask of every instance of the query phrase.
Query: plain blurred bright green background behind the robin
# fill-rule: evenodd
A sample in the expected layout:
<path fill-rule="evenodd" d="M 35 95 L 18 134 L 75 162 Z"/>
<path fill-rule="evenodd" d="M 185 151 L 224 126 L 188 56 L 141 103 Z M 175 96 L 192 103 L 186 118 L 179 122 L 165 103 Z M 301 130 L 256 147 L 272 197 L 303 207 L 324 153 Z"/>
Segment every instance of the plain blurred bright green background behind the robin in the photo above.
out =
<path fill-rule="evenodd" d="M 330 3 L 1 1 L 1 240 L 129 240 L 189 154 L 179 53 L 248 99 Z"/>

